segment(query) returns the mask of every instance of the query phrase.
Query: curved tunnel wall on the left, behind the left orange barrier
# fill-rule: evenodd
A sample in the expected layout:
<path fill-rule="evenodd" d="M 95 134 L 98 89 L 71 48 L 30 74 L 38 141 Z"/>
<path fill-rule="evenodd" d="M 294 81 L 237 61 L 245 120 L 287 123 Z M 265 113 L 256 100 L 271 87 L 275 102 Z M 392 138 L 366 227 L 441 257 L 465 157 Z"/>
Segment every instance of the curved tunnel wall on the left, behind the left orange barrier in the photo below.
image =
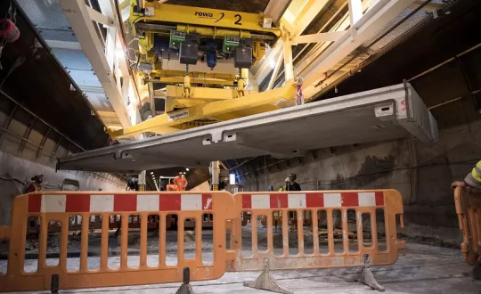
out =
<path fill-rule="evenodd" d="M 11 114 L 6 114 L 9 112 Z M 84 191 L 126 190 L 126 181 L 118 175 L 56 171 L 57 157 L 72 154 L 79 151 L 78 148 L 37 119 L 29 118 L 27 113 L 19 108 L 16 111 L 0 108 L 0 122 L 2 121 L 4 127 L 0 130 L 0 225 L 10 224 L 13 198 L 24 193 L 27 185 L 31 183 L 31 177 L 37 174 L 44 175 L 45 190 L 60 190 L 60 184 L 66 178 L 77 180 L 79 189 Z M 40 148 L 44 139 L 43 148 Z"/>

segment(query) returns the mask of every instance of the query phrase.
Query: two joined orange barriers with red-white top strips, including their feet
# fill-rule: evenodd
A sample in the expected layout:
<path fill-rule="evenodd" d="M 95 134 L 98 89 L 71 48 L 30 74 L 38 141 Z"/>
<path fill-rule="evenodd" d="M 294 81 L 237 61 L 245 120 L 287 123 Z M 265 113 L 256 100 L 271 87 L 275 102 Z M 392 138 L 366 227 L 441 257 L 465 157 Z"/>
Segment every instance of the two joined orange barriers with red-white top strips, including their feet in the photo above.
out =
<path fill-rule="evenodd" d="M 20 195 L 12 224 L 0 227 L 0 240 L 10 240 L 0 291 L 186 287 L 225 271 L 264 270 L 250 287 L 289 293 L 269 270 L 350 266 L 363 266 L 359 281 L 382 290 L 369 265 L 393 264 L 405 249 L 402 215 L 394 190 Z"/>

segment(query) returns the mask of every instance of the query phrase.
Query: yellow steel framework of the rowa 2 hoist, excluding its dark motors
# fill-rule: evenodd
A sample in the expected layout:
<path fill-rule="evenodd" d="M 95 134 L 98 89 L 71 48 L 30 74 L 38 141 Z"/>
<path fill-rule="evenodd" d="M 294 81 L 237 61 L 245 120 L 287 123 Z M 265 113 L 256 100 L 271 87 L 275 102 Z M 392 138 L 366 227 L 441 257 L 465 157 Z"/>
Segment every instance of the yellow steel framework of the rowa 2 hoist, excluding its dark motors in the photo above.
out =
<path fill-rule="evenodd" d="M 150 118 L 133 127 L 113 130 L 113 138 L 154 132 L 160 135 L 178 130 L 204 126 L 217 121 L 240 118 L 270 110 L 278 110 L 280 100 L 292 102 L 296 95 L 298 79 L 290 76 L 288 82 L 275 90 L 258 93 L 251 85 L 249 69 L 214 69 L 189 72 L 178 70 L 178 61 L 168 61 L 153 52 L 154 37 L 168 35 L 169 28 L 202 37 L 220 38 L 233 36 L 253 38 L 252 54 L 256 63 L 265 55 L 264 41 L 259 39 L 285 38 L 279 28 L 265 29 L 263 13 L 232 12 L 192 6 L 143 2 L 143 10 L 130 1 L 130 18 L 138 40 L 138 61 L 151 64 L 151 70 L 143 76 L 144 83 L 166 84 L 165 92 L 154 96 L 164 98 L 165 114 Z M 142 24 L 142 25 L 141 25 Z M 255 34 L 255 36 L 254 36 Z M 173 63 L 177 62 L 177 63 Z M 175 65 L 177 64 L 177 65 Z M 195 67 L 194 67 L 195 68 Z M 233 69 L 233 64 L 232 64 Z M 229 73 L 227 73 L 229 72 Z M 201 85 L 201 86 L 199 86 Z"/>

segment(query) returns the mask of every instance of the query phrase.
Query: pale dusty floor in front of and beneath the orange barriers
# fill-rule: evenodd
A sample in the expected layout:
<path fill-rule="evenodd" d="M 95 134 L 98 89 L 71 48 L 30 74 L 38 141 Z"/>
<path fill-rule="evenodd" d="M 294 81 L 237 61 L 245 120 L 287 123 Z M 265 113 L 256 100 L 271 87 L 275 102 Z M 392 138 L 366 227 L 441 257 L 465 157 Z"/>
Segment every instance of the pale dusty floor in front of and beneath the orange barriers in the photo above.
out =
<path fill-rule="evenodd" d="M 481 281 L 468 275 L 471 267 L 461 258 L 459 249 L 444 249 L 415 243 L 408 244 L 408 254 L 395 265 L 371 267 L 388 293 L 481 293 Z M 274 271 L 281 286 L 294 293 L 374 293 L 354 282 L 360 268 L 329 270 Z M 242 285 L 257 278 L 258 272 L 226 273 L 216 281 L 192 282 L 195 293 L 269 293 Z M 159 284 L 88 290 L 65 290 L 64 293 L 175 293 L 180 284 Z M 47 292 L 45 292 L 47 293 Z"/>

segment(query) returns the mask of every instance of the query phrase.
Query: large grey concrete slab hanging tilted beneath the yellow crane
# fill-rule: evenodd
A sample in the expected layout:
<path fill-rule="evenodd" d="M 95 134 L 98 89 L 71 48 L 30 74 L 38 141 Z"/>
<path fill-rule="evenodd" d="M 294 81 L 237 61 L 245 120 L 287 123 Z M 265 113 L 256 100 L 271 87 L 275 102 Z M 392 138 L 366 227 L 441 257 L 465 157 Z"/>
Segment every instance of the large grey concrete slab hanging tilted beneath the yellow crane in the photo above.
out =
<path fill-rule="evenodd" d="M 411 85 L 387 86 L 63 157 L 58 168 L 130 173 L 205 167 L 213 160 L 303 156 L 353 143 L 437 139 L 436 120 Z"/>

